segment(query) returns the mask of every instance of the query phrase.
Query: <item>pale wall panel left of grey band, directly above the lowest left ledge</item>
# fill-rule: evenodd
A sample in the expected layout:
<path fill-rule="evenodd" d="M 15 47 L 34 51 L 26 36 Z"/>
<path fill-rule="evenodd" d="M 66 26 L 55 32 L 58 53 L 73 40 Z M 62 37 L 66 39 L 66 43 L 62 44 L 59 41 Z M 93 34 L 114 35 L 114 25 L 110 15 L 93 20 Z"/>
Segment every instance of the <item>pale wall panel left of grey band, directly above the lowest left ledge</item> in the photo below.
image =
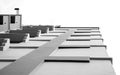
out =
<path fill-rule="evenodd" d="M 36 49 L 9 48 L 6 51 L 0 51 L 0 60 L 17 60 L 21 58 L 22 56 L 25 56 L 34 50 Z"/>

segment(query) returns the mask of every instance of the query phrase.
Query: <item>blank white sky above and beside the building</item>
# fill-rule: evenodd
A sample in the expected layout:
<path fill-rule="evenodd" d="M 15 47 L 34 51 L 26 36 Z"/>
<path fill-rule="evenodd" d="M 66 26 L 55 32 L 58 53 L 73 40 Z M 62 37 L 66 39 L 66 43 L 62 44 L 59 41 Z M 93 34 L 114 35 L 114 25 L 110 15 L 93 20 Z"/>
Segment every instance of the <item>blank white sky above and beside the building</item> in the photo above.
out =
<path fill-rule="evenodd" d="M 0 0 L 0 13 L 19 7 L 23 24 L 99 26 L 120 74 L 120 0 Z"/>

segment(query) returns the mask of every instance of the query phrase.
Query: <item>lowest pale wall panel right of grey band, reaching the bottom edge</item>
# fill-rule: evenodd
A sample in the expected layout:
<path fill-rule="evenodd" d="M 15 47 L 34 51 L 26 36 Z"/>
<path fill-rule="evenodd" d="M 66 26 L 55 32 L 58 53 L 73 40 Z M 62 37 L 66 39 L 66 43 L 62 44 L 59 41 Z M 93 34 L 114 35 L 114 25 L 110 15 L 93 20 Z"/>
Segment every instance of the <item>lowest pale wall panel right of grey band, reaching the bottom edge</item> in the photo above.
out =
<path fill-rule="evenodd" d="M 45 62 L 29 75 L 115 75 L 108 60 L 91 60 L 90 63 Z"/>

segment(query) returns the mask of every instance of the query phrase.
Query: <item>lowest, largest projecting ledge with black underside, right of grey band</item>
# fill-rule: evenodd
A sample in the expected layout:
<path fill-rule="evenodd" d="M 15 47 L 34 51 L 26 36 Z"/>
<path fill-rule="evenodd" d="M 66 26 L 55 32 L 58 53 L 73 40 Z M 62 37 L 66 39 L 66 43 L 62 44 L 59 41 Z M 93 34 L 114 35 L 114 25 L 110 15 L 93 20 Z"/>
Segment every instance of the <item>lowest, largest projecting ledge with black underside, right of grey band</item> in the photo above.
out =
<path fill-rule="evenodd" d="M 90 57 L 90 56 L 49 56 L 45 58 L 45 62 L 84 62 L 88 63 L 91 60 L 109 60 L 112 63 L 111 57 Z"/>

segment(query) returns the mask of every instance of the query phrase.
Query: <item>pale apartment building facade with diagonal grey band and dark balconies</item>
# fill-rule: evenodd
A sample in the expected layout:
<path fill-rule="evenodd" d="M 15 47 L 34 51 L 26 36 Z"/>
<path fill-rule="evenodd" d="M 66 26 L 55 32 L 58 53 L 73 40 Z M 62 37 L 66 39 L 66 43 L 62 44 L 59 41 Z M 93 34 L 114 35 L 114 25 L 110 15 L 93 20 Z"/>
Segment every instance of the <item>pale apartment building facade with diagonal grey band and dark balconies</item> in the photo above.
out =
<path fill-rule="evenodd" d="M 115 75 L 99 27 L 24 28 L 4 33 L 0 75 Z"/>

